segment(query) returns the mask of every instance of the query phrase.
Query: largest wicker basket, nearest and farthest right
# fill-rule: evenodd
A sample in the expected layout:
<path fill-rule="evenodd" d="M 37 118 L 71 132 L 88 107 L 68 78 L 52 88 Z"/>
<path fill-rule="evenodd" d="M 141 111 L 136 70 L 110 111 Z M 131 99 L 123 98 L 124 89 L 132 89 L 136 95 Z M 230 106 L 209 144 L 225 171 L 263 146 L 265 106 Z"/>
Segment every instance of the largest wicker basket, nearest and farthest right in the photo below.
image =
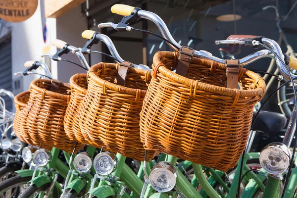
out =
<path fill-rule="evenodd" d="M 141 111 L 141 141 L 149 150 L 226 171 L 236 165 L 250 131 L 254 105 L 263 96 L 262 77 L 240 68 L 241 90 L 226 88 L 226 66 L 193 58 L 186 77 L 177 52 L 157 52 Z"/>

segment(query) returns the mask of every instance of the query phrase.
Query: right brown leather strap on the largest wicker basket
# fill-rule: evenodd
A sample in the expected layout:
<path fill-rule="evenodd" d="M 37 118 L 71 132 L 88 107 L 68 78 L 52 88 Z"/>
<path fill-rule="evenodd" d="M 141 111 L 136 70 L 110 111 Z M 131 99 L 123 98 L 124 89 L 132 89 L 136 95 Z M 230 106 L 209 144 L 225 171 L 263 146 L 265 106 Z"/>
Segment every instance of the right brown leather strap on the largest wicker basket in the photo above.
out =
<path fill-rule="evenodd" d="M 227 67 L 226 84 L 227 88 L 238 89 L 238 73 L 239 73 L 239 60 L 226 59 L 225 64 Z"/>

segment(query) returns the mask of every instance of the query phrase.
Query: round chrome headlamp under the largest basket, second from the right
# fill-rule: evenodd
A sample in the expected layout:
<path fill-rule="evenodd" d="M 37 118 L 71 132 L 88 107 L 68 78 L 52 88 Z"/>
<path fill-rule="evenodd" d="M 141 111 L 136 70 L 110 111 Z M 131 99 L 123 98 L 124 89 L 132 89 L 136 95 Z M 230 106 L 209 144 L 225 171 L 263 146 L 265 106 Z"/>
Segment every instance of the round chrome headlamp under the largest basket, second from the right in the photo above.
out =
<path fill-rule="evenodd" d="M 149 183 L 154 190 L 166 193 L 175 187 L 176 178 L 175 166 L 172 163 L 161 161 L 152 167 L 149 174 Z"/>

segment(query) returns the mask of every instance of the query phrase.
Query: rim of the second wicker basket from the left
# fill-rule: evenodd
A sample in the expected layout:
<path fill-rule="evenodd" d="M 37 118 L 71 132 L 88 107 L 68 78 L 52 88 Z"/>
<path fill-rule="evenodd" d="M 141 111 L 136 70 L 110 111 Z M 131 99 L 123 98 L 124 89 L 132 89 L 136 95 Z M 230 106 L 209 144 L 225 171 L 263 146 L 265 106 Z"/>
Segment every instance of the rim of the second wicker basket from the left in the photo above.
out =
<path fill-rule="evenodd" d="M 66 94 L 59 94 L 56 92 L 52 92 L 43 88 L 40 88 L 36 85 L 36 83 L 38 82 L 46 82 L 46 83 L 51 83 L 50 79 L 35 79 L 31 82 L 30 84 L 30 88 L 39 92 L 39 93 L 43 93 L 49 97 L 53 97 L 53 98 L 58 98 L 58 99 L 64 99 L 64 100 L 68 100 L 68 98 L 70 97 L 70 95 L 66 95 Z M 69 88 L 70 90 L 70 85 L 66 84 L 66 83 L 62 83 L 63 86 L 65 86 L 66 88 Z M 45 91 L 44 91 L 45 90 Z"/>

